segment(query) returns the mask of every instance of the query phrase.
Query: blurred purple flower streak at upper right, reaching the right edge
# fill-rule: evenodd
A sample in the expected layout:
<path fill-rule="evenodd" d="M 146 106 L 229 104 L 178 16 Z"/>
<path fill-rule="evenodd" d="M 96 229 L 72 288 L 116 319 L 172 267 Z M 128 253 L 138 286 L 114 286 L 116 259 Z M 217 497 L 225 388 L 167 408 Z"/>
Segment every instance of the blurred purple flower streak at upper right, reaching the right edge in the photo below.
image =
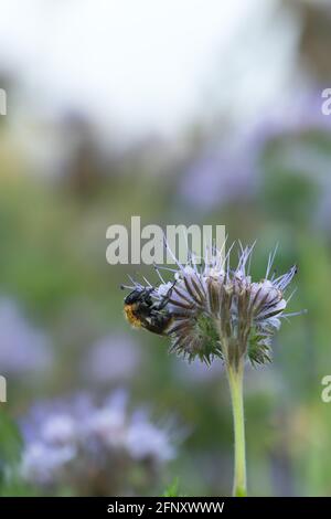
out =
<path fill-rule="evenodd" d="M 268 142 L 281 136 L 331 130 L 331 117 L 321 110 L 321 92 L 296 95 L 288 105 L 270 109 L 260 120 L 222 140 L 220 147 L 206 150 L 184 174 L 180 195 L 201 211 L 254 198 Z"/>

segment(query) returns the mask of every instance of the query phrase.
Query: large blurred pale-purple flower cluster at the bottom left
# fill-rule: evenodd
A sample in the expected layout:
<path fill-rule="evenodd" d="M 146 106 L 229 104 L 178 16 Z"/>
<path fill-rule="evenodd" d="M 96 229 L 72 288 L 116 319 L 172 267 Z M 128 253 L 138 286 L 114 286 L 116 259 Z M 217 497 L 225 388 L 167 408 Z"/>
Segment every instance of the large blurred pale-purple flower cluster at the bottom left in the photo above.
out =
<path fill-rule="evenodd" d="M 132 491 L 130 477 L 138 467 L 142 481 L 151 485 L 175 454 L 169 430 L 153 424 L 146 412 L 130 413 L 124 391 L 103 405 L 86 395 L 43 402 L 21 428 L 24 478 L 55 489 L 67 485 L 78 495 Z"/>

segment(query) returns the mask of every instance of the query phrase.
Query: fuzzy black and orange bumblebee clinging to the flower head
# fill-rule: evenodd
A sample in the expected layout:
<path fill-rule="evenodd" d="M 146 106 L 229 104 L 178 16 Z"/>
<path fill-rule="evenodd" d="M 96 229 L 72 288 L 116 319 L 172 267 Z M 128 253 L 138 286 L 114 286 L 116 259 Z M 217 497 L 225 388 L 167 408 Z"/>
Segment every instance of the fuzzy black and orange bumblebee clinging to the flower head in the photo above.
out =
<path fill-rule="evenodd" d="M 173 285 L 160 300 L 156 301 L 152 298 L 154 287 L 135 286 L 124 300 L 125 315 L 130 325 L 135 328 L 146 328 L 159 336 L 166 336 L 172 320 L 171 315 L 166 310 L 172 288 Z"/>

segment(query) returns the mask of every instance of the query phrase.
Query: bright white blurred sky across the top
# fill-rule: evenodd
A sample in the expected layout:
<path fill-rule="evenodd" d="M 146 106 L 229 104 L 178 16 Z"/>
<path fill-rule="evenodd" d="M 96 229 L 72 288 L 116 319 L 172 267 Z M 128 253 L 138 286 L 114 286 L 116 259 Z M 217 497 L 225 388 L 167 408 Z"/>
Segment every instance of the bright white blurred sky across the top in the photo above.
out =
<path fill-rule="evenodd" d="M 245 120 L 286 95 L 297 31 L 277 4 L 0 0 L 0 65 L 33 109 L 77 108 L 122 138 L 172 136 L 228 107 Z"/>

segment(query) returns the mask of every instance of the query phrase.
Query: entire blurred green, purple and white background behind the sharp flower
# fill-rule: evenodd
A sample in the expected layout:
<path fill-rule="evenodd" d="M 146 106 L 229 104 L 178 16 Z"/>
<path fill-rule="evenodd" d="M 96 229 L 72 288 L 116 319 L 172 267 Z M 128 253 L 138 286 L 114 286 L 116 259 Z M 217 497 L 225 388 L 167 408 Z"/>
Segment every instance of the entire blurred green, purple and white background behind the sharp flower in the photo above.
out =
<path fill-rule="evenodd" d="M 327 0 L 1 2 L 0 495 L 231 494 L 221 362 L 122 317 L 106 229 L 135 214 L 298 263 L 309 313 L 247 367 L 248 490 L 331 495 L 330 56 Z"/>

